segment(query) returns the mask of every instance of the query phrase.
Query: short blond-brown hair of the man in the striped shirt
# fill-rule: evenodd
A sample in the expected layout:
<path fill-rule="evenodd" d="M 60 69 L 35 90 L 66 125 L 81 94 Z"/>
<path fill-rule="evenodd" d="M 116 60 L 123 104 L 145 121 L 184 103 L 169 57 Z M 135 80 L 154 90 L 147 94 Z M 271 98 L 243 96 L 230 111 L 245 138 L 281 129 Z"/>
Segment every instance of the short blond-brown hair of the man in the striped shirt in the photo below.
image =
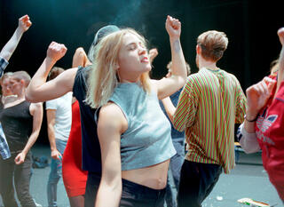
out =
<path fill-rule="evenodd" d="M 228 42 L 225 33 L 216 30 L 204 32 L 197 38 L 197 44 L 201 46 L 201 55 L 205 60 L 220 60 Z"/>

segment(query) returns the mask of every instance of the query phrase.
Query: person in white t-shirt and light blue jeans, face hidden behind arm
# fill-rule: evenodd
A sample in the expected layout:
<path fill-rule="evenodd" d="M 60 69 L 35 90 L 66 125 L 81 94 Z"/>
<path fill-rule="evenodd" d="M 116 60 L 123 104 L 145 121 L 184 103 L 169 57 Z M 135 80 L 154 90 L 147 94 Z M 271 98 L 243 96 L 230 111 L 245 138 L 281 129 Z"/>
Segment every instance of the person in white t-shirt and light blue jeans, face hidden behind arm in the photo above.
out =
<path fill-rule="evenodd" d="M 63 68 L 54 67 L 48 76 L 49 81 L 59 76 Z M 62 174 L 62 155 L 67 145 L 72 121 L 72 92 L 55 100 L 46 101 L 48 139 L 51 144 L 51 172 L 47 183 L 49 207 L 57 206 L 57 184 Z"/>

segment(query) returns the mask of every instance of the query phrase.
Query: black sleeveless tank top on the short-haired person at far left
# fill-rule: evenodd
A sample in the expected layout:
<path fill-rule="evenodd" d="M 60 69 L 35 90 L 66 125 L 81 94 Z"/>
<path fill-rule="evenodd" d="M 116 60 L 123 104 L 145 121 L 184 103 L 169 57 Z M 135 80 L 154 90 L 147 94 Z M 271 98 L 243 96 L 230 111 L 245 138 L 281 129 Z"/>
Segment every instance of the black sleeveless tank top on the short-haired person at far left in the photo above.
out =
<path fill-rule="evenodd" d="M 29 113 L 29 106 L 30 103 L 24 100 L 0 112 L 0 121 L 12 153 L 24 149 L 33 131 L 33 116 Z"/>

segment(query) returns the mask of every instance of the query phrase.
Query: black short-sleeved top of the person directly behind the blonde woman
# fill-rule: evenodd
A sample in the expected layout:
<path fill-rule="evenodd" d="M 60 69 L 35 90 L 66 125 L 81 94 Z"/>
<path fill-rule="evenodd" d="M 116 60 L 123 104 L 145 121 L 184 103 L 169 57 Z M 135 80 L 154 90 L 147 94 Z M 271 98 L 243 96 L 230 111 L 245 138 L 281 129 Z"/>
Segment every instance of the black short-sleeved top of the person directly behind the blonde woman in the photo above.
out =
<path fill-rule="evenodd" d="M 96 109 L 91 108 L 84 101 L 87 92 L 87 78 L 91 66 L 78 68 L 75 76 L 73 92 L 79 102 L 82 130 L 82 164 L 84 171 L 101 173 L 101 157 L 97 123 L 94 120 Z"/>

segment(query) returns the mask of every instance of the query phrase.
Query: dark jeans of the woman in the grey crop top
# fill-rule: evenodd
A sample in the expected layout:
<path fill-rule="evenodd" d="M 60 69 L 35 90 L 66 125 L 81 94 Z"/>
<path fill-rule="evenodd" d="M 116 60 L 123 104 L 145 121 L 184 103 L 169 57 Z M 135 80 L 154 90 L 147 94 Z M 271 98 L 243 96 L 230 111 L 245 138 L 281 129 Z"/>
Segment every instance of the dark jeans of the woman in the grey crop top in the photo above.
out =
<path fill-rule="evenodd" d="M 166 189 L 155 190 L 122 179 L 122 199 L 120 207 L 160 207 L 164 203 Z"/>

